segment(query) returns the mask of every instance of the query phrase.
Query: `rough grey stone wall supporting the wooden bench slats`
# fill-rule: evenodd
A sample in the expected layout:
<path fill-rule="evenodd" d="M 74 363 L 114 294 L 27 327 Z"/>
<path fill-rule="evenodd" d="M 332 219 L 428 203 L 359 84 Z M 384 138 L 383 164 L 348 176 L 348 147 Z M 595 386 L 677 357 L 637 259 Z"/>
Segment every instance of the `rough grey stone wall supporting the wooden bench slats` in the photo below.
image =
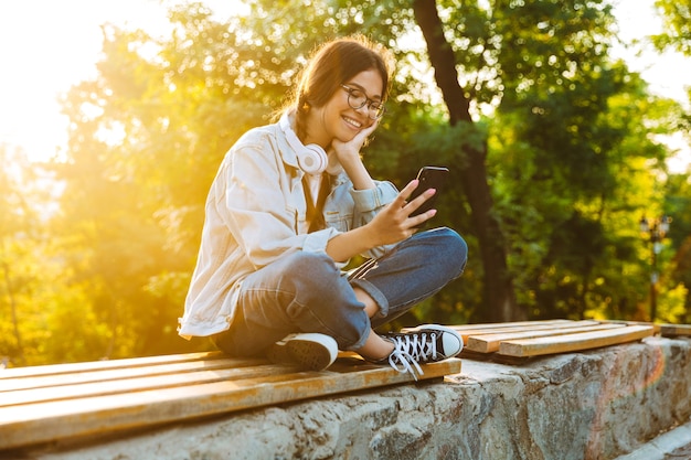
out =
<path fill-rule="evenodd" d="M 41 460 L 614 459 L 691 417 L 691 340 L 648 338 L 444 382 L 26 452 Z"/>

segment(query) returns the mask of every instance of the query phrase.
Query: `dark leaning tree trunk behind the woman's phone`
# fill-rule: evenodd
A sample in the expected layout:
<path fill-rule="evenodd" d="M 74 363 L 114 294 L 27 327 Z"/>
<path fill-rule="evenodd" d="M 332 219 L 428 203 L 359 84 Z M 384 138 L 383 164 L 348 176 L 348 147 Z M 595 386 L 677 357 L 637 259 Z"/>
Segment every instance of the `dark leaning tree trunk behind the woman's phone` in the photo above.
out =
<path fill-rule="evenodd" d="M 449 111 L 451 126 L 472 124 L 470 100 L 458 84 L 454 50 L 444 38 L 435 0 L 413 2 L 415 20 L 423 31 L 437 86 Z M 480 246 L 485 269 L 483 290 L 487 310 L 482 317 L 492 322 L 525 320 L 528 313 L 515 303 L 513 282 L 507 265 L 504 237 L 492 215 L 492 197 L 487 182 L 487 145 L 458 146 L 463 161 L 455 164 L 472 210 L 472 224 Z"/>

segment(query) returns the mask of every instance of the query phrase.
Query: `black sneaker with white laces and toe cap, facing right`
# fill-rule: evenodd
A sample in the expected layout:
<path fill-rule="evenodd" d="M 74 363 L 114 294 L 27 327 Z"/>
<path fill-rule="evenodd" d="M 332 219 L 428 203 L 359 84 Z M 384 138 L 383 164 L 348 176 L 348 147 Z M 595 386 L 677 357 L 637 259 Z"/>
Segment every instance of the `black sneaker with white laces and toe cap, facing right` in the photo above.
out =
<path fill-rule="evenodd" d="M 438 324 L 425 324 L 411 332 L 389 333 L 383 335 L 394 344 L 391 354 L 375 362 L 389 363 L 394 370 L 423 375 L 421 364 L 448 360 L 460 353 L 464 347 L 463 336 L 450 328 Z"/>

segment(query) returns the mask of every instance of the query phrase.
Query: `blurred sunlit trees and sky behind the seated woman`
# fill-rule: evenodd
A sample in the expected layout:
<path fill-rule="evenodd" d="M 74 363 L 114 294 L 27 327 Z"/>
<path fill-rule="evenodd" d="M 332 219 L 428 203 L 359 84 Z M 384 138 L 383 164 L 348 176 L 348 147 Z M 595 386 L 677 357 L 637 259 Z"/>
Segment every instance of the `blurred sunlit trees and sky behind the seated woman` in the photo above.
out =
<path fill-rule="evenodd" d="M 691 323 L 691 1 L 0 1 L 0 366 L 208 350 L 177 335 L 204 200 L 306 57 L 397 60 L 363 151 L 453 180 L 466 274 L 393 327 Z"/>

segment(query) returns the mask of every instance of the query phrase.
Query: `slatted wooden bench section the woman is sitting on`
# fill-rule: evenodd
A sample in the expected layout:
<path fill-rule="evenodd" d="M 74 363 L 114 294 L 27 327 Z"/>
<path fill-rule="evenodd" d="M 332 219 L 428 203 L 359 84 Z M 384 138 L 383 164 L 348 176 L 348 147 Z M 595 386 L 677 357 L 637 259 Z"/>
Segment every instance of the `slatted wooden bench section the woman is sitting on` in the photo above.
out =
<path fill-rule="evenodd" d="M 419 381 L 460 372 L 423 366 Z M 322 372 L 220 352 L 0 371 L 0 451 L 261 406 L 411 383 L 411 374 L 340 353 Z"/>

